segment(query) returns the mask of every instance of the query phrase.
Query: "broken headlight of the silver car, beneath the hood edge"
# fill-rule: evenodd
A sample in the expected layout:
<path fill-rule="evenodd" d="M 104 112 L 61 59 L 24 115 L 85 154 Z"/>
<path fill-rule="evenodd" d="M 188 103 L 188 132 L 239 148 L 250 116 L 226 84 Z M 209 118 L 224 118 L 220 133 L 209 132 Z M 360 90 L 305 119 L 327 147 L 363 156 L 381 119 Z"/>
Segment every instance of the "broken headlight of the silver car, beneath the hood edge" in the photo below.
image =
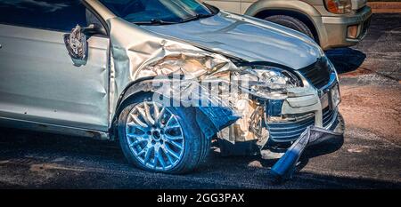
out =
<path fill-rule="evenodd" d="M 246 66 L 241 71 L 241 88 L 259 97 L 282 99 L 289 88 L 302 86 L 298 76 L 283 68 Z"/>

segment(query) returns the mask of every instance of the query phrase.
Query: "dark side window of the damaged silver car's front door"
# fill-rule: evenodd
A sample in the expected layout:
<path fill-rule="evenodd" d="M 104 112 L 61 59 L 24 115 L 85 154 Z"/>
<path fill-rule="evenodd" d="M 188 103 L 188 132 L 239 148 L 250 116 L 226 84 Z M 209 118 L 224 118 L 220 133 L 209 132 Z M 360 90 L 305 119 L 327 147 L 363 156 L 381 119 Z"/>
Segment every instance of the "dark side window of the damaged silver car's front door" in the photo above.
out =
<path fill-rule="evenodd" d="M 79 0 L 2 0 L 0 23 L 70 31 L 86 26 L 86 7 Z"/>

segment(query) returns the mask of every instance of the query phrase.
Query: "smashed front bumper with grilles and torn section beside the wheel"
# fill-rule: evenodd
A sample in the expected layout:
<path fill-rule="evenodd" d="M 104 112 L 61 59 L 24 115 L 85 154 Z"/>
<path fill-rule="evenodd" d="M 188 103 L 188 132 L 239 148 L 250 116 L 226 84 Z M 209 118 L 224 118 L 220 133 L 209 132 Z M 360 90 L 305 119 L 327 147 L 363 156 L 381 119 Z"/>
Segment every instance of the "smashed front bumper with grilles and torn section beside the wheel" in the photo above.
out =
<path fill-rule="evenodd" d="M 250 109 L 244 110 L 240 120 L 217 134 L 218 138 L 231 142 L 223 141 L 223 155 L 258 154 L 263 149 L 282 152 L 313 126 L 344 133 L 344 121 L 338 107 L 339 83 L 330 61 L 323 58 L 296 73 L 301 77 L 303 87 L 289 89 L 288 97 L 283 100 L 259 99 L 258 107 L 250 104 Z"/>

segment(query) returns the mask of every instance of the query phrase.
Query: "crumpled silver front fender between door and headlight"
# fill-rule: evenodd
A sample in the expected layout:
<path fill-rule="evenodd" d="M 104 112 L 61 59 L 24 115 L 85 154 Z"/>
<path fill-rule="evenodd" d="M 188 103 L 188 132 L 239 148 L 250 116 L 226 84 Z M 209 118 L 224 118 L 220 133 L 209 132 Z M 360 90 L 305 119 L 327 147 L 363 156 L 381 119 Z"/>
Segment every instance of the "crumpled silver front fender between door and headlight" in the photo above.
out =
<path fill-rule="evenodd" d="M 187 84 L 190 88 L 180 92 L 191 93 L 191 89 L 200 87 L 198 83 L 201 79 L 236 69 L 222 55 L 151 34 L 119 18 L 107 22 L 110 28 L 113 66 L 110 80 L 110 120 L 114 116 L 119 96 L 135 80 L 169 74 L 184 75 L 185 80 L 191 81 L 181 85 Z M 228 102 L 225 106 L 229 106 Z"/>

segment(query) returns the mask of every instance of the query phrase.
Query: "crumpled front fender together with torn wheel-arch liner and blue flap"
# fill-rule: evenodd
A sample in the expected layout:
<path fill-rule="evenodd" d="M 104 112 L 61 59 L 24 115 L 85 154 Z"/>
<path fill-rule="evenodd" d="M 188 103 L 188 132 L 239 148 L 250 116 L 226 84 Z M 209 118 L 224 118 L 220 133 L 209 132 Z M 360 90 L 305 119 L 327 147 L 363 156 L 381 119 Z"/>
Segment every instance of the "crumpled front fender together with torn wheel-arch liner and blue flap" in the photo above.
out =
<path fill-rule="evenodd" d="M 172 84 L 162 82 L 160 88 L 154 87 L 158 83 L 153 80 L 151 89 L 148 87 L 148 90 L 172 100 L 176 100 L 176 96 L 170 94 L 178 94 L 180 98 L 191 97 L 187 103 L 184 102 L 185 99 L 177 100 L 180 105 L 184 106 L 192 106 L 193 102 L 202 102 L 202 106 L 204 106 L 206 102 L 206 106 L 210 105 L 211 107 L 200 107 L 200 110 L 209 115 L 210 122 L 216 128 L 215 133 L 242 117 L 233 126 L 236 129 L 236 135 L 230 135 L 225 139 L 233 137 L 240 141 L 258 139 L 250 131 L 250 115 L 254 114 L 256 103 L 252 103 L 248 95 L 243 96 L 241 101 L 237 101 L 237 97 L 234 96 L 219 96 L 217 93 L 220 89 L 209 90 L 208 85 L 200 84 L 202 81 L 202 84 L 211 83 L 212 85 L 216 85 L 213 82 L 225 82 L 220 87 L 228 85 L 230 72 L 239 71 L 231 60 L 189 44 L 169 40 L 164 36 L 149 34 L 149 32 L 118 18 L 111 19 L 108 23 L 111 28 L 111 55 L 112 66 L 114 66 L 110 83 L 110 97 L 112 97 L 110 118 L 114 116 L 112 112 L 117 107 L 118 94 L 121 94 L 128 84 L 143 77 L 174 74 L 175 76 L 184 76 L 184 80 L 180 81 L 178 85 L 174 85 L 174 82 Z M 128 36 L 135 36 L 135 38 L 128 38 Z M 205 100 L 205 97 L 209 99 Z M 221 114 L 224 110 L 212 110 L 213 107 L 229 108 L 232 112 L 229 113 L 230 115 L 227 113 L 216 115 L 216 113 Z M 261 119 L 259 121 L 262 123 Z M 259 136 L 266 136 L 266 129 L 259 130 L 264 134 Z"/>

